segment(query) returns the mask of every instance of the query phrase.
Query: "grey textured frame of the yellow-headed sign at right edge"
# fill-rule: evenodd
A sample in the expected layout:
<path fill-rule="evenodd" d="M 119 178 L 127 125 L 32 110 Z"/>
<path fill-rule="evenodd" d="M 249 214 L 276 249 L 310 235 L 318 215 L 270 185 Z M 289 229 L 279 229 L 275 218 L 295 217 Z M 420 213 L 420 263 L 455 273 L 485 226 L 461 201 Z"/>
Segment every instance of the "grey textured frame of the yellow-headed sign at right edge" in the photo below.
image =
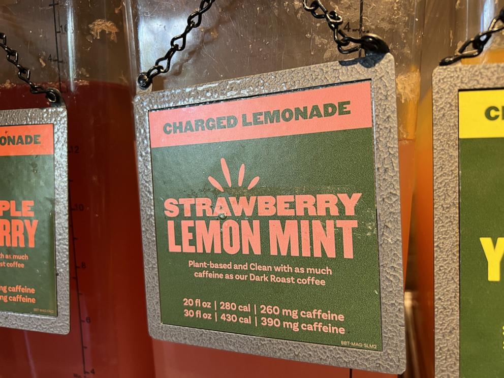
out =
<path fill-rule="evenodd" d="M 504 87 L 502 64 L 438 67 L 432 75 L 436 377 L 460 372 L 458 93 L 497 87 Z"/>

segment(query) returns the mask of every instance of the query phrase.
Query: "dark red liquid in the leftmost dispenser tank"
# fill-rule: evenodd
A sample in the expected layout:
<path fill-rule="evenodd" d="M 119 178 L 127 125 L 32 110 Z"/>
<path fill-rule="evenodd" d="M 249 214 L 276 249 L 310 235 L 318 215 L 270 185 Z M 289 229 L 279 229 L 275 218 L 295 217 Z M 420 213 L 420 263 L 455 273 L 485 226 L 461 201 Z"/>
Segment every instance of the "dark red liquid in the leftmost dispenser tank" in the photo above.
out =
<path fill-rule="evenodd" d="M 3 109 L 45 106 L 24 86 Z M 80 83 L 69 117 L 71 332 L 0 328 L 0 378 L 153 377 L 147 331 L 131 93 Z"/>

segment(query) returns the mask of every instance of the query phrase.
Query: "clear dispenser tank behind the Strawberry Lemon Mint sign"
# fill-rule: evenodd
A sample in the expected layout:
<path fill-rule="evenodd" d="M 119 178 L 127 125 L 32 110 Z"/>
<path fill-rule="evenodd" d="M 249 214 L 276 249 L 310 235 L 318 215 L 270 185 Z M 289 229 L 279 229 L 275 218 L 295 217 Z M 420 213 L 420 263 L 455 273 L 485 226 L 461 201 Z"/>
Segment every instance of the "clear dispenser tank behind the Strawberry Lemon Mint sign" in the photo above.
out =
<path fill-rule="evenodd" d="M 193 0 L 128 0 L 132 71 L 148 70 L 180 34 Z M 404 266 L 414 187 L 415 129 L 420 95 L 423 0 L 327 0 L 346 20 L 346 33 L 374 33 L 389 44 L 396 61 L 398 137 Z M 324 20 L 303 9 L 302 0 L 218 0 L 193 30 L 170 72 L 155 78 L 152 90 L 183 88 L 218 80 L 357 57 L 341 55 Z M 154 342 L 157 377 L 349 377 L 348 369 L 275 360 L 195 346 Z M 198 361 L 195 363 L 195 360 Z M 386 376 L 353 371 L 353 378 Z"/>

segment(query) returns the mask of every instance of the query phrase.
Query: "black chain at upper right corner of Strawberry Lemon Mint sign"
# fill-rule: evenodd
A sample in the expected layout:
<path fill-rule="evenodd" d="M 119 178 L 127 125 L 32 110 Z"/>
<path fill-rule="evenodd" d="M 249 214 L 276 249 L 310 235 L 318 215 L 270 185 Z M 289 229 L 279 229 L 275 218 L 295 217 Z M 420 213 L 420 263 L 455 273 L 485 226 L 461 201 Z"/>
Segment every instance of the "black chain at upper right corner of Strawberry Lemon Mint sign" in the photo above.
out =
<path fill-rule="evenodd" d="M 310 3 L 308 5 L 308 3 Z M 311 13 L 315 18 L 324 18 L 333 31 L 334 42 L 338 45 L 338 51 L 342 54 L 350 54 L 359 51 L 361 48 L 366 52 L 376 52 L 386 54 L 389 46 L 379 36 L 375 34 L 363 34 L 359 38 L 348 36 L 339 27 L 343 24 L 343 18 L 336 11 L 328 11 L 319 0 L 303 0 L 305 11 Z M 350 46 L 350 44 L 354 44 Z"/>

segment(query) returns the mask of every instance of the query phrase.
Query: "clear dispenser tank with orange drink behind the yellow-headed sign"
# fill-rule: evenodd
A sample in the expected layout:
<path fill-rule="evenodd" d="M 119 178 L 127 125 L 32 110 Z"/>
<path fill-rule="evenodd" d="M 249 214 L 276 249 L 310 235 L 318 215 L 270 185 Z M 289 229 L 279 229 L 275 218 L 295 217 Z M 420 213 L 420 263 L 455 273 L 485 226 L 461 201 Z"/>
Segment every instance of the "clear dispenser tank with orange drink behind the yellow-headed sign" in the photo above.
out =
<path fill-rule="evenodd" d="M 421 99 L 418 106 L 415 159 L 415 190 L 412 206 L 409 252 L 412 270 L 408 274 L 417 291 L 416 350 L 421 376 L 434 374 L 434 245 L 433 245 L 433 161 L 432 161 L 432 71 L 439 61 L 452 56 L 468 39 L 488 29 L 504 6 L 504 0 L 432 1 L 426 9 L 424 46 L 421 59 Z M 463 59 L 462 65 L 504 62 L 504 36 L 494 34 L 483 53 Z"/>

